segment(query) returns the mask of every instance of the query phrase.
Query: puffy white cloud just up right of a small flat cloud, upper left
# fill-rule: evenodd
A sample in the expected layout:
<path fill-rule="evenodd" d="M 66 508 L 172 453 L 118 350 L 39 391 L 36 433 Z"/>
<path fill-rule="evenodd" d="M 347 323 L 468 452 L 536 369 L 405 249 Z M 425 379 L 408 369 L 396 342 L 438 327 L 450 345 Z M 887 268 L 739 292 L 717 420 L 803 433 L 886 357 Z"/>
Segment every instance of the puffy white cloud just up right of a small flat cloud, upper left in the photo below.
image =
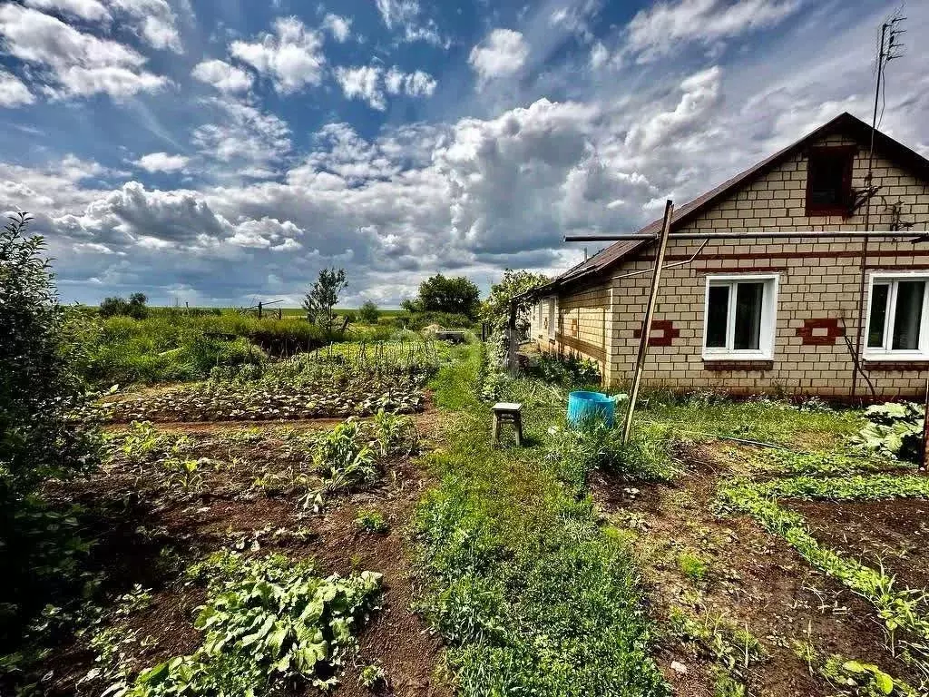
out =
<path fill-rule="evenodd" d="M 283 94 L 319 85 L 322 80 L 322 38 L 295 17 L 275 20 L 274 33 L 262 34 L 259 41 L 233 42 L 229 52 L 273 79 Z"/>

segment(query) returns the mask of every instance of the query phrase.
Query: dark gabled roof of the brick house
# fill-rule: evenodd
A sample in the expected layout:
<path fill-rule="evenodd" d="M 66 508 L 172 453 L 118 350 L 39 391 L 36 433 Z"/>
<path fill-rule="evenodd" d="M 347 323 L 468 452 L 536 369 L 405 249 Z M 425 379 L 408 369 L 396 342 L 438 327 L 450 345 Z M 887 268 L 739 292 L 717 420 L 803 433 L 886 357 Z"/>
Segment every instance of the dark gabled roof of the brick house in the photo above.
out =
<path fill-rule="evenodd" d="M 671 231 L 674 232 L 674 230 L 679 230 L 682 226 L 686 225 L 687 222 L 692 220 L 694 217 L 699 216 L 700 213 L 707 208 L 712 207 L 714 204 L 720 203 L 721 200 L 725 199 L 727 196 L 730 196 L 732 193 L 739 190 L 742 186 L 750 183 L 752 180 L 763 177 L 765 174 L 770 172 L 779 164 L 783 163 L 797 151 L 803 151 L 803 149 L 810 145 L 812 142 L 817 141 L 819 138 L 825 138 L 826 136 L 831 136 L 836 133 L 841 133 L 843 135 L 855 138 L 858 142 L 870 144 L 870 125 L 861 121 L 852 114 L 844 112 L 836 116 L 830 122 L 819 126 L 815 131 L 806 134 L 803 138 L 800 138 L 783 150 L 775 152 L 773 155 L 766 158 L 765 160 L 762 160 L 760 163 L 754 164 L 752 167 L 749 167 L 745 171 L 740 172 L 735 177 L 724 181 L 715 189 L 707 191 L 701 196 L 695 198 L 693 201 L 687 202 L 687 204 L 684 204 L 680 207 L 675 207 L 674 216 L 671 219 Z M 925 179 L 929 179 L 929 160 L 922 157 L 922 155 L 918 152 L 910 150 L 903 143 L 881 133 L 881 131 L 875 131 L 874 151 L 886 154 L 890 157 L 890 159 L 907 167 L 910 171 L 913 172 L 913 174 L 916 174 Z M 657 236 L 660 233 L 661 218 L 648 223 L 648 225 L 641 230 L 637 230 L 635 234 L 654 234 Z M 591 256 L 586 261 L 583 261 L 581 264 L 578 264 L 577 266 L 574 266 L 571 269 L 565 271 L 560 276 L 556 277 L 552 283 L 543 286 L 543 288 L 537 289 L 537 291 L 552 290 L 556 286 L 564 285 L 567 283 L 574 283 L 582 278 L 586 278 L 608 270 L 620 262 L 623 258 L 635 254 L 635 252 L 637 252 L 643 246 L 647 246 L 648 244 L 651 244 L 651 242 L 641 240 L 622 240 L 620 242 L 613 243 L 603 251 L 595 254 L 594 256 Z"/>

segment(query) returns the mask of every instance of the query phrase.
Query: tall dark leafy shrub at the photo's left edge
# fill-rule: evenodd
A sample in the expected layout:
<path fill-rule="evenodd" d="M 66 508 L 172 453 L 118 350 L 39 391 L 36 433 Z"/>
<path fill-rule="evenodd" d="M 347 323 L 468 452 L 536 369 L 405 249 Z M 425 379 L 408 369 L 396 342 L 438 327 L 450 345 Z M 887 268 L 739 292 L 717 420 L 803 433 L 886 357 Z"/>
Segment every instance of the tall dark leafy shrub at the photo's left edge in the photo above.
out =
<path fill-rule="evenodd" d="M 36 490 L 98 462 L 44 241 L 26 235 L 28 221 L 12 217 L 0 231 L 0 653 L 47 598 L 84 581 L 76 521 L 47 510 Z"/>

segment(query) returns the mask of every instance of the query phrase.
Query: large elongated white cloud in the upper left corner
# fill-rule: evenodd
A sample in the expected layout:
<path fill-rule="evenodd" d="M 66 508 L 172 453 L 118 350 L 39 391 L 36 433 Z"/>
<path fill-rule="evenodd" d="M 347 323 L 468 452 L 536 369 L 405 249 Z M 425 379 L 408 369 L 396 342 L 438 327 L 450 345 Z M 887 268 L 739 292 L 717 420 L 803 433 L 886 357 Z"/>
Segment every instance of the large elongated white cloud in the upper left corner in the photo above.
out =
<path fill-rule="evenodd" d="M 143 70 L 146 59 L 128 46 L 82 33 L 37 10 L 0 7 L 0 36 L 7 53 L 46 69 L 52 97 L 109 94 L 114 99 L 154 92 L 166 78 Z"/>

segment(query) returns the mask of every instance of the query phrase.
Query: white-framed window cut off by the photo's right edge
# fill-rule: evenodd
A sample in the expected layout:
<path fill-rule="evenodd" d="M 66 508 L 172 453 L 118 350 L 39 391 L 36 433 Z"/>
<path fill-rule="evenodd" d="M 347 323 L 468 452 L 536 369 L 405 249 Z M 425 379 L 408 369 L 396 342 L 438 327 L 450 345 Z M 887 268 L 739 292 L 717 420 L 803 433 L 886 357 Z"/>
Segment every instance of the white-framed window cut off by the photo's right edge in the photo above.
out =
<path fill-rule="evenodd" d="M 875 273 L 870 277 L 865 358 L 929 359 L 929 276 Z"/>

